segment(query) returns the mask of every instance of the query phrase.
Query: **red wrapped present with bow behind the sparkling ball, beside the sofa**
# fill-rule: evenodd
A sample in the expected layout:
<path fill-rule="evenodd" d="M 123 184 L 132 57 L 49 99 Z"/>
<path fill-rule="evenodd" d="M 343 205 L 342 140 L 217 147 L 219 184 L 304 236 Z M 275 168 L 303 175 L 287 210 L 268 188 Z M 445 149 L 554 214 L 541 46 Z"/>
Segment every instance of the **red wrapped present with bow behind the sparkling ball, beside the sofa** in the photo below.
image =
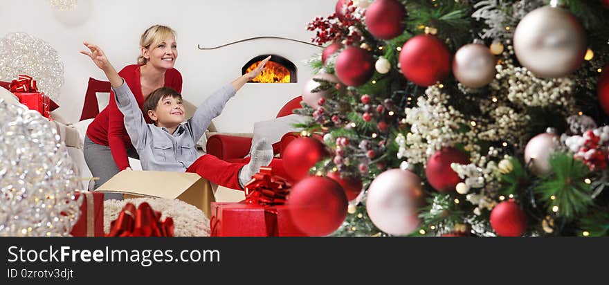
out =
<path fill-rule="evenodd" d="M 26 105 L 30 110 L 38 111 L 44 118 L 51 118 L 51 111 L 59 108 L 51 98 L 38 92 L 36 80 L 28 75 L 19 75 L 18 80 L 12 80 L 9 89 L 19 98 L 21 104 Z"/>

